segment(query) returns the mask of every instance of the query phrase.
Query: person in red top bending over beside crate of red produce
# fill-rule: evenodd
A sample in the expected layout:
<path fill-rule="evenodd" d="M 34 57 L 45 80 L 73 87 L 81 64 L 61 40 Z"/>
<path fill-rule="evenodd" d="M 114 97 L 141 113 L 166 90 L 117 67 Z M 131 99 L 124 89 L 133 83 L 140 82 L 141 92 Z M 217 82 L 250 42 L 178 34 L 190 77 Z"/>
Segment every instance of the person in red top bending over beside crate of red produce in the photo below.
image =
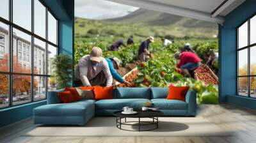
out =
<path fill-rule="evenodd" d="M 200 66 L 200 58 L 193 52 L 182 52 L 175 54 L 175 57 L 179 59 L 177 68 L 180 68 L 180 73 L 184 77 L 194 77 L 194 71 Z"/>

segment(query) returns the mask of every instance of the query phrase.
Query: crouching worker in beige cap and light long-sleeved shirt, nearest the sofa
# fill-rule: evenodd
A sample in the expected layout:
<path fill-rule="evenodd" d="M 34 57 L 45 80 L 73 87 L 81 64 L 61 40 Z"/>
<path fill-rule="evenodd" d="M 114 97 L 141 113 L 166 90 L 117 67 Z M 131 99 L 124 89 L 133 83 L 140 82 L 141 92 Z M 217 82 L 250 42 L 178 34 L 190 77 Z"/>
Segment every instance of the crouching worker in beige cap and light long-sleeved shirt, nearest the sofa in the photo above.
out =
<path fill-rule="evenodd" d="M 112 86 L 112 75 L 102 50 L 93 47 L 90 55 L 79 60 L 75 73 L 76 86 Z"/>

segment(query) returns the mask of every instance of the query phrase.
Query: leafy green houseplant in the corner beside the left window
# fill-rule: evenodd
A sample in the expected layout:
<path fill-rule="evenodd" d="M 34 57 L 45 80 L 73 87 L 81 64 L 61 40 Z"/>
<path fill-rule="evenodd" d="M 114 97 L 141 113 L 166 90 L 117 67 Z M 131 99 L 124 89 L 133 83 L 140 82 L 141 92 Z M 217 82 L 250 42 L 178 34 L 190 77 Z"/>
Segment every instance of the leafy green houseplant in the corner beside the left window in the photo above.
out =
<path fill-rule="evenodd" d="M 70 87 L 72 80 L 72 59 L 67 54 L 59 54 L 51 59 L 52 75 L 57 89 Z"/>

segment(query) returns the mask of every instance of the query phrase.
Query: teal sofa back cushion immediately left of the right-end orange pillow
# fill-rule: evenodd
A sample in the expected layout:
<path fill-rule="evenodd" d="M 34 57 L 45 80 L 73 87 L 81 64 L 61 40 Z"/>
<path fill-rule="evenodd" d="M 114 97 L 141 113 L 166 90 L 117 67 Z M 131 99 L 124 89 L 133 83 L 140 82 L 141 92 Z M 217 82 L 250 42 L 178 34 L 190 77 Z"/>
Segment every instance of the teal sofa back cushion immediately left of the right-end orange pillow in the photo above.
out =
<path fill-rule="evenodd" d="M 151 87 L 151 99 L 166 98 L 169 93 L 168 87 Z"/>

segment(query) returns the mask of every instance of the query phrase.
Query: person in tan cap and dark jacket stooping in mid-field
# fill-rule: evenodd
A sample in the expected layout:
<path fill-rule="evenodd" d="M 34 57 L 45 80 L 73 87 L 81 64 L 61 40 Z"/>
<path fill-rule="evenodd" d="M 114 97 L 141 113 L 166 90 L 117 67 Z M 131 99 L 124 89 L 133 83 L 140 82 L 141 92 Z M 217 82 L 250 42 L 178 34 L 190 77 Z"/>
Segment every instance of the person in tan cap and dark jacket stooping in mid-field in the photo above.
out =
<path fill-rule="evenodd" d="M 138 56 L 140 58 L 140 61 L 147 61 L 150 57 L 152 57 L 152 54 L 149 52 L 149 44 L 154 42 L 154 37 L 149 36 L 147 40 L 143 41 L 140 44 L 140 48 L 138 50 Z"/>

